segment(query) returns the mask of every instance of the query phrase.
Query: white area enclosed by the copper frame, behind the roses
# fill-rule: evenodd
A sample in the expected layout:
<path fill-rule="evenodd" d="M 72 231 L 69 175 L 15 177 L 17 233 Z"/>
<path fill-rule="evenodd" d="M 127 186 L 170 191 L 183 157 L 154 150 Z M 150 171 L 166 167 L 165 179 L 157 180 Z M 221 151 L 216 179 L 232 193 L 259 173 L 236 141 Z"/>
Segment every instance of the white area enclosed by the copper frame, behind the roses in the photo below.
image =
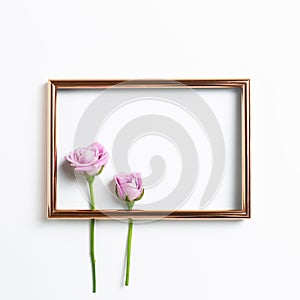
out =
<path fill-rule="evenodd" d="M 185 101 L 188 101 L 191 95 L 195 99 L 195 94 L 199 97 L 199 101 L 204 101 L 209 106 L 215 116 L 222 130 L 225 146 L 222 181 L 213 199 L 205 206 L 201 206 L 200 200 L 208 184 L 214 162 L 210 138 L 201 124 L 201 119 L 197 119 L 194 112 L 185 107 Z M 109 94 L 106 90 L 59 90 L 56 119 L 57 208 L 89 209 L 89 194 L 85 180 L 82 176 L 75 177 L 64 156 L 74 147 L 84 147 L 96 140 L 103 144 L 111 155 L 109 163 L 94 183 L 97 209 L 124 208 L 121 201 L 115 197 L 112 179 L 115 173 L 130 170 L 141 172 L 145 178 L 145 195 L 137 202 L 136 209 L 152 207 L 168 210 L 240 209 L 240 97 L 240 89 L 235 88 L 110 89 Z M 197 101 L 194 101 L 194 105 L 197 110 Z M 96 110 L 99 110 L 99 114 Z M 94 111 L 92 117 L 87 118 L 87 114 L 91 111 Z M 105 111 L 104 115 L 103 111 Z M 88 120 L 87 124 L 84 123 L 85 119 Z M 171 130 L 170 134 L 166 134 L 164 120 L 170 123 L 168 129 Z M 155 123 L 156 130 L 153 132 L 147 129 L 151 128 L 151 122 L 153 125 Z M 172 124 L 174 124 L 173 129 Z M 93 126 L 92 131 L 95 132 L 92 135 L 91 126 Z M 145 127 L 144 133 L 143 127 Z M 126 130 L 130 132 L 126 133 Z M 182 178 L 183 164 L 188 159 L 182 157 L 182 153 L 189 156 L 186 153 L 190 150 L 187 148 L 188 143 L 180 142 L 179 132 L 188 135 L 188 140 L 193 143 L 192 148 L 197 151 L 197 159 L 191 170 L 191 174 L 197 171 L 197 176 Z M 174 141 L 177 133 L 179 136 Z M 84 136 L 78 137 L 78 135 Z M 132 138 L 135 135 L 137 135 L 135 138 L 126 141 L 126 136 Z M 120 145 L 122 139 L 125 139 L 124 143 L 129 147 L 122 148 Z M 80 140 L 86 141 L 85 144 L 77 145 Z M 126 168 L 127 164 L 130 169 Z M 167 207 L 163 204 L 163 200 L 172 194 L 179 184 L 190 183 L 193 188 L 188 193 L 181 190 L 177 193 L 177 197 L 182 199 L 174 198 L 176 200 L 174 205 L 169 203 Z"/>

